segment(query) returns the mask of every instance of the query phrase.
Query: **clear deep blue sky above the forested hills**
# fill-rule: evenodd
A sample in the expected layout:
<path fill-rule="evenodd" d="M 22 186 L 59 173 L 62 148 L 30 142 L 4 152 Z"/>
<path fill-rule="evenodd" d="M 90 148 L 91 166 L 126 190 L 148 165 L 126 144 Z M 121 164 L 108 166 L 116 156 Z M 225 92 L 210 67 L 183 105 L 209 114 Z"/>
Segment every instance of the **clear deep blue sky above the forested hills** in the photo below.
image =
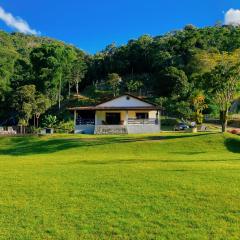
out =
<path fill-rule="evenodd" d="M 0 0 L 32 29 L 89 52 L 142 34 L 161 35 L 192 23 L 212 26 L 239 0 Z M 13 31 L 0 20 L 0 28 Z"/>

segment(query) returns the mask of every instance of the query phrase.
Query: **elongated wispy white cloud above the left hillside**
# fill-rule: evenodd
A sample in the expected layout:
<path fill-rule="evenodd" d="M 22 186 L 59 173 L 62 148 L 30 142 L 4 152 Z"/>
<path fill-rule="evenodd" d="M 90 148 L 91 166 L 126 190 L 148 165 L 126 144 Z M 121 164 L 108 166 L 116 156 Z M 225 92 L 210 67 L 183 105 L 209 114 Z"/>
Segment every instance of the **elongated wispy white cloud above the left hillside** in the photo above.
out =
<path fill-rule="evenodd" d="M 14 17 L 11 13 L 6 12 L 1 6 L 0 6 L 0 19 L 3 20 L 9 27 L 14 28 L 21 33 L 33 35 L 39 34 L 39 32 L 30 28 L 26 21 L 19 17 Z"/>

